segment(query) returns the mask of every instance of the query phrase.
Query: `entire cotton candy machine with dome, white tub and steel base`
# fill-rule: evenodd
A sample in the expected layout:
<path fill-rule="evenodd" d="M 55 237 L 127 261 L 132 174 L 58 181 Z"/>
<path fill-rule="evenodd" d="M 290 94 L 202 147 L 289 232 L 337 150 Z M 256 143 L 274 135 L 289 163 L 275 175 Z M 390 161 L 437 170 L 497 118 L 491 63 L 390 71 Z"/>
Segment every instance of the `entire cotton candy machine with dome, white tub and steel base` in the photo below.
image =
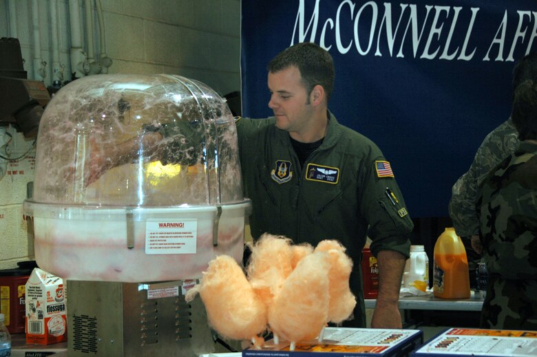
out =
<path fill-rule="evenodd" d="M 242 259 L 250 207 L 233 116 L 207 85 L 98 75 L 60 89 L 24 208 L 39 267 L 67 283 L 69 356 L 218 350 L 182 294 L 216 255 Z"/>

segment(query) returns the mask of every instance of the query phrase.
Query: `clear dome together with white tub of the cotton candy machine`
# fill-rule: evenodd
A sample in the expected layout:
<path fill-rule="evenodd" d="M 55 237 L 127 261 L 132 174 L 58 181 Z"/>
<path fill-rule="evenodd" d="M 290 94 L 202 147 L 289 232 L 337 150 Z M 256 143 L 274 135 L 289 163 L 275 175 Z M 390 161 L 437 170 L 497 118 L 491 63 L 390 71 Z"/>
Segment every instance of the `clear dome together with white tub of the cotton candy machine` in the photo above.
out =
<path fill-rule="evenodd" d="M 249 208 L 231 111 L 197 80 L 88 76 L 43 113 L 25 212 L 59 277 L 200 277 L 215 255 L 242 259 Z"/>

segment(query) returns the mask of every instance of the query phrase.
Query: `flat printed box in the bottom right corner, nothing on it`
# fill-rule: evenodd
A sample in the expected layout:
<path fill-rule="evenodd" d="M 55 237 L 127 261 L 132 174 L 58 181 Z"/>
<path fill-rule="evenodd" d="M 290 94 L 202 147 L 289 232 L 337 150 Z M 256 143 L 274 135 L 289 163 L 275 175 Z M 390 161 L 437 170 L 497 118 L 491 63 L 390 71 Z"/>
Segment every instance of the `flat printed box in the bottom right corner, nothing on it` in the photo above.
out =
<path fill-rule="evenodd" d="M 537 356 L 537 331 L 451 328 L 431 338 L 412 356 Z"/>

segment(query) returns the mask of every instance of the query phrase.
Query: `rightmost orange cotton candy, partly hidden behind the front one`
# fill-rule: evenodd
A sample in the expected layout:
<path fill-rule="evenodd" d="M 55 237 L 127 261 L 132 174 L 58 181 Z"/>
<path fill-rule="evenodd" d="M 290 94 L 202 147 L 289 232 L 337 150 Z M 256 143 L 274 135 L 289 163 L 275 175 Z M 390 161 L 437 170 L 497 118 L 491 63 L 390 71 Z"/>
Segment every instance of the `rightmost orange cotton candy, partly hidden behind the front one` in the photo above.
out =
<path fill-rule="evenodd" d="M 330 303 L 328 305 L 328 321 L 333 323 L 341 323 L 348 319 L 356 305 L 356 298 L 350 292 L 348 285 L 352 260 L 345 254 L 345 250 L 346 248 L 335 240 L 320 241 L 315 247 L 316 252 L 324 251 L 329 256 Z"/>

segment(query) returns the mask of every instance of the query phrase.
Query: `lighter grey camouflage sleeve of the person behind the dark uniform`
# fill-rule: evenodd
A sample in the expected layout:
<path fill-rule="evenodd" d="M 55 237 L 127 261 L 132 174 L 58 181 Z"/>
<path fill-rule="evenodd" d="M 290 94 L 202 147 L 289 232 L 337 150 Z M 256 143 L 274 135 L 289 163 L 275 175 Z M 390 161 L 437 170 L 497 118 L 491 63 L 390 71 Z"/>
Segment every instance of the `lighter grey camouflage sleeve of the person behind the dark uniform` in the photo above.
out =
<path fill-rule="evenodd" d="M 453 185 L 449 210 L 457 235 L 470 237 L 478 234 L 478 186 L 498 162 L 516 150 L 518 142 L 518 134 L 509 118 L 485 137 L 470 169 Z"/>

